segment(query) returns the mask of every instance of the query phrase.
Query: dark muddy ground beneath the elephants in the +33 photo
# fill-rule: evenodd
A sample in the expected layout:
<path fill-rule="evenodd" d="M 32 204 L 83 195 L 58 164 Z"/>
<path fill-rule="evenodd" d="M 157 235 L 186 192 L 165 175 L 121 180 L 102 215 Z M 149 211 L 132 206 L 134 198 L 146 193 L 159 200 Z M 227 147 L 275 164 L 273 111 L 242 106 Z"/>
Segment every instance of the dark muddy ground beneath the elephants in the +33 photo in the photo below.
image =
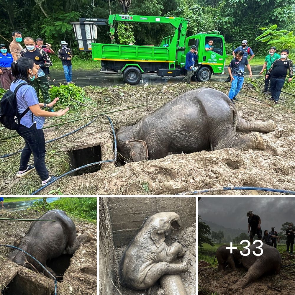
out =
<path fill-rule="evenodd" d="M 282 265 L 293 263 L 294 256 L 283 253 Z M 246 269 L 226 270 L 223 273 L 218 272 L 216 266 L 210 266 L 209 263 L 201 260 L 198 267 L 199 295 L 294 295 L 294 270 L 294 267 L 281 268 L 281 272 L 277 275 L 264 275 L 245 289 L 229 291 L 228 288 L 245 275 Z"/>

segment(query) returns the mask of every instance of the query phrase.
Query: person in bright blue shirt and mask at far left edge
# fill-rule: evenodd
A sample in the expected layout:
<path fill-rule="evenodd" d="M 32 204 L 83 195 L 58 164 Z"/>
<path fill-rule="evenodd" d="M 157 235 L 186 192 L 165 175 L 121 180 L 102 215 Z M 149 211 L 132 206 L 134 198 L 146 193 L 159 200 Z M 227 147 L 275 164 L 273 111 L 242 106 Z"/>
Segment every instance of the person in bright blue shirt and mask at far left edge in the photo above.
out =
<path fill-rule="evenodd" d="M 12 55 L 7 52 L 7 46 L 0 44 L 0 81 L 3 89 L 9 89 L 10 84 L 14 81 L 11 73 Z"/>

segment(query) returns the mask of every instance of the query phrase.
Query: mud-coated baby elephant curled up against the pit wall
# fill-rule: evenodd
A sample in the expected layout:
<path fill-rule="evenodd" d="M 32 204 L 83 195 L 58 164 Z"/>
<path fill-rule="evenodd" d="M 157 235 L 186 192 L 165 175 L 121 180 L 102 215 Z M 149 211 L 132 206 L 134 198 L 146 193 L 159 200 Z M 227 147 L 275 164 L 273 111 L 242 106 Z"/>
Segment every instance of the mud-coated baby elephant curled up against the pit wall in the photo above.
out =
<path fill-rule="evenodd" d="M 163 275 L 188 271 L 187 263 L 172 263 L 184 255 L 183 246 L 167 246 L 165 237 L 181 228 L 174 212 L 161 212 L 149 217 L 130 243 L 120 264 L 120 283 L 131 289 L 148 289 Z"/>

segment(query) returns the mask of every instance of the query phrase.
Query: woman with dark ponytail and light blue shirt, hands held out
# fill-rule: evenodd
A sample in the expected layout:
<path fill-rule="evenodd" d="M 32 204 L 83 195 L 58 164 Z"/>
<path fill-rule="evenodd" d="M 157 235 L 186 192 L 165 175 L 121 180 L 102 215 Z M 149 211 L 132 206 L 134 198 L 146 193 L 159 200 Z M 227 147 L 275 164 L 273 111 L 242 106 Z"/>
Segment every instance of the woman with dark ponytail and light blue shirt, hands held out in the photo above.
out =
<path fill-rule="evenodd" d="M 55 176 L 49 176 L 45 166 L 45 138 L 42 130 L 45 117 L 62 116 L 68 112 L 69 108 L 58 112 L 47 112 L 41 109 L 42 107 L 52 107 L 58 101 L 58 97 L 50 104 L 39 103 L 36 90 L 31 85 L 31 82 L 37 78 L 38 70 L 35 66 L 33 60 L 29 58 L 19 58 L 14 61 L 11 68 L 15 81 L 11 83 L 10 90 L 14 91 L 17 85 L 21 83 L 29 83 L 29 85 L 20 86 L 16 94 L 18 112 L 21 114 L 29 107 L 29 111 L 20 119 L 19 127 L 16 130 L 25 141 L 20 157 L 19 171 L 16 176 L 22 177 L 35 168 L 43 185 L 56 179 Z M 32 153 L 34 165 L 28 165 Z"/>

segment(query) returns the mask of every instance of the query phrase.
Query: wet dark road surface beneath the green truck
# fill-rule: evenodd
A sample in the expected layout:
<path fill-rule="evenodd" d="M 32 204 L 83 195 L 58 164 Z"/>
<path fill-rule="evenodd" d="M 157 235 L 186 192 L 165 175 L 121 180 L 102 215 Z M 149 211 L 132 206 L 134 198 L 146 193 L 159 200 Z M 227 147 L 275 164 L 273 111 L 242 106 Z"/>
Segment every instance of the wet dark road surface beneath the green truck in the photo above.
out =
<path fill-rule="evenodd" d="M 254 78 L 259 78 L 259 72 L 261 71 L 262 66 L 253 66 L 252 73 Z M 248 76 L 248 70 L 245 69 L 245 77 Z M 227 68 L 225 68 L 224 75 L 212 75 L 210 81 L 220 82 L 225 80 L 228 77 Z M 63 71 L 58 70 L 50 70 L 50 78 L 49 84 L 58 86 L 59 83 L 65 84 L 65 76 Z M 138 86 L 143 86 L 146 83 L 149 85 L 155 84 L 176 84 L 180 83 L 183 79 L 182 76 L 180 77 L 159 77 L 156 75 L 142 75 L 142 79 L 137 84 Z M 53 81 L 54 80 L 54 81 Z M 100 73 L 98 69 L 92 71 L 84 71 L 84 70 L 76 70 L 73 71 L 73 82 L 78 86 L 114 86 L 114 85 L 124 85 L 125 82 L 120 78 L 119 75 L 110 75 L 110 74 L 103 74 Z"/>

